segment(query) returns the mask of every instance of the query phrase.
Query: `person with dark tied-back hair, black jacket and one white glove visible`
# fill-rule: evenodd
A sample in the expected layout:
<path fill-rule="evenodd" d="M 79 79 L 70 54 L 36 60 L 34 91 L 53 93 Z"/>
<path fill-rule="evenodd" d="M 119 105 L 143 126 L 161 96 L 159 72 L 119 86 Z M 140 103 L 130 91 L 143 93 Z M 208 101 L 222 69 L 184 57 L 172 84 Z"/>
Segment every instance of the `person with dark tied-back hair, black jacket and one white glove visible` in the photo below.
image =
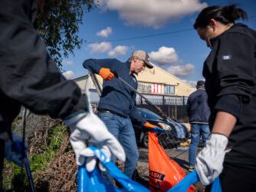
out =
<path fill-rule="evenodd" d="M 194 23 L 211 48 L 203 68 L 211 135 L 195 169 L 204 185 L 219 176 L 224 192 L 256 190 L 256 31 L 238 18 L 248 16 L 237 5 L 215 5 Z"/>

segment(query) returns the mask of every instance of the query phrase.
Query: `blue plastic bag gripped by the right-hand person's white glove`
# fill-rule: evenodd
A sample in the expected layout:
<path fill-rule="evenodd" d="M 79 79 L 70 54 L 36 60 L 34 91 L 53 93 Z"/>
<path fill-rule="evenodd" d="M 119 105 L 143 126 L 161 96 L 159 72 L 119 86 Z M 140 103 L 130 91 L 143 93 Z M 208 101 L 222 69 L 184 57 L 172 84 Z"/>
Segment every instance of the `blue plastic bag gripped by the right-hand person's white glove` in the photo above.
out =
<path fill-rule="evenodd" d="M 193 170 L 190 174 L 188 174 L 183 180 L 181 180 L 174 187 L 171 187 L 168 192 L 186 192 L 188 187 L 191 184 L 196 183 L 199 180 L 198 173 L 196 170 Z M 217 177 L 211 185 L 211 192 L 221 192 L 221 183 L 219 178 Z"/>

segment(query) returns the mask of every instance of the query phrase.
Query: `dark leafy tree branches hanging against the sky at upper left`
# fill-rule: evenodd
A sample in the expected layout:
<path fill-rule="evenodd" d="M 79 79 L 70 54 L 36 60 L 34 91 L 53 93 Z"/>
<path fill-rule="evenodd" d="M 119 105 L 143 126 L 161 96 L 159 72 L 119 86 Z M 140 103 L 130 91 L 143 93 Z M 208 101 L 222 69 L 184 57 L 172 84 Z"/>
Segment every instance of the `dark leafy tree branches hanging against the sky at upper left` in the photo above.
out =
<path fill-rule="evenodd" d="M 85 12 L 97 6 L 94 0 L 45 0 L 44 12 L 38 13 L 38 31 L 49 54 L 62 69 L 62 58 L 81 48 L 79 25 Z"/>

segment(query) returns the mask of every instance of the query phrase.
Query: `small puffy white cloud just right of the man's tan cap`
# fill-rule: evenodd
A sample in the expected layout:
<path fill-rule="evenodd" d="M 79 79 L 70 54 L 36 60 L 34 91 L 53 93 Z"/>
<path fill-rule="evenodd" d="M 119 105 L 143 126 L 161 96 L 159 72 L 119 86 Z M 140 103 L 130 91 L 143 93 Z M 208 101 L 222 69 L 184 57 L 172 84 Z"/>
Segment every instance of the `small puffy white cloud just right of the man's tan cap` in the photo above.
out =
<path fill-rule="evenodd" d="M 175 48 L 161 47 L 158 51 L 148 53 L 150 61 L 157 62 L 158 65 L 174 64 L 178 61 L 178 55 Z"/>

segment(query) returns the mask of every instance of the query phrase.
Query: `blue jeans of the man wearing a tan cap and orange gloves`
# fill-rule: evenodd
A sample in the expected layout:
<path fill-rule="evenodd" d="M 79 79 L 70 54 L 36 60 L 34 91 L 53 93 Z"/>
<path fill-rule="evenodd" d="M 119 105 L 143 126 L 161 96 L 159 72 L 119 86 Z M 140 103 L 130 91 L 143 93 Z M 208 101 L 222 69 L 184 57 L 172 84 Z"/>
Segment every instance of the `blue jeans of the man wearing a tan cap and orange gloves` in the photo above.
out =
<path fill-rule="evenodd" d="M 113 134 L 125 150 L 125 170 L 124 174 L 132 177 L 138 162 L 138 147 L 135 139 L 135 131 L 130 118 L 122 118 L 117 114 L 99 113 L 98 117 L 108 127 L 108 131 Z M 115 158 L 112 158 L 115 161 Z"/>

